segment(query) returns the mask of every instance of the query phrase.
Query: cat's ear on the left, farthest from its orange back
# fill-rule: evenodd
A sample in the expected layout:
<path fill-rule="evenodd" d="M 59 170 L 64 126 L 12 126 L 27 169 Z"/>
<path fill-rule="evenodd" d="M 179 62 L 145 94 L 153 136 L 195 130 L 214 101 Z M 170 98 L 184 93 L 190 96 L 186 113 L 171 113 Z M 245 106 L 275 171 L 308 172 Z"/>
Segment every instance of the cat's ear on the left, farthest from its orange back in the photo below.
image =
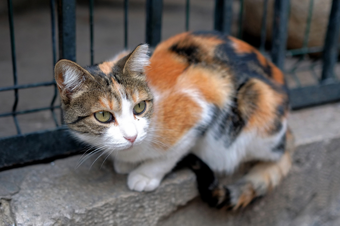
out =
<path fill-rule="evenodd" d="M 59 60 L 54 67 L 55 81 L 61 94 L 79 90 L 87 74 L 85 69 L 70 60 Z"/>

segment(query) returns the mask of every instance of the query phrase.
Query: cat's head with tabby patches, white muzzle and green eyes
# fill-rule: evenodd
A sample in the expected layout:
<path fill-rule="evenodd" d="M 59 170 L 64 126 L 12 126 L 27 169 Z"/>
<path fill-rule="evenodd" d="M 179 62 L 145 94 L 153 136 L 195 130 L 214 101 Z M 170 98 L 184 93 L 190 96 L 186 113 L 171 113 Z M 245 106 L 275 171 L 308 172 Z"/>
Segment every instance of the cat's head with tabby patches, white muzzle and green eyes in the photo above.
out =
<path fill-rule="evenodd" d="M 55 80 L 65 123 L 81 140 L 103 148 L 140 144 L 153 113 L 144 71 L 148 65 L 148 45 L 138 45 L 120 60 L 85 68 L 58 61 Z"/>

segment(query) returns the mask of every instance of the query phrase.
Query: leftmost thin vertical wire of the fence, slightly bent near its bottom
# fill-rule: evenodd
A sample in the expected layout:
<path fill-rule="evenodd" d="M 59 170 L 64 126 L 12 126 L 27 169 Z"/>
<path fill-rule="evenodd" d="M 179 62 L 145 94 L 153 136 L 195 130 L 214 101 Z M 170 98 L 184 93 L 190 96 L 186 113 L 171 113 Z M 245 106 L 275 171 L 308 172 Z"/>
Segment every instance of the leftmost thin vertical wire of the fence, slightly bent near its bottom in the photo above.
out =
<path fill-rule="evenodd" d="M 15 38 L 14 38 L 14 24 L 13 24 L 13 4 L 12 0 L 7 0 L 8 3 L 8 20 L 9 20 L 9 28 L 11 33 L 11 51 L 12 51 L 12 67 L 13 67 L 13 79 L 14 85 L 17 85 L 17 57 L 16 57 L 16 45 L 15 45 Z M 17 103 L 19 101 L 18 90 L 14 89 L 14 104 L 12 108 L 13 113 L 13 120 L 16 124 L 17 134 L 21 134 L 19 122 L 17 121 L 17 115 L 15 114 L 17 110 Z"/>

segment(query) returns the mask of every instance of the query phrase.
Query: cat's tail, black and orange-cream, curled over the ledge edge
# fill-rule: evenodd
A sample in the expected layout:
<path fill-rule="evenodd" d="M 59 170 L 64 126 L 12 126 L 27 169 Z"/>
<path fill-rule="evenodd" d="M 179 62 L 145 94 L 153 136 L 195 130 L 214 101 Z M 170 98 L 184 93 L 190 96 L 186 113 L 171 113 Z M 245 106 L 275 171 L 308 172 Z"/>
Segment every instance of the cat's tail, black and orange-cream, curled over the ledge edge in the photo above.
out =
<path fill-rule="evenodd" d="M 265 195 L 288 174 L 294 151 L 294 138 L 290 130 L 286 137 L 285 152 L 277 162 L 256 164 L 234 184 L 220 184 L 209 166 L 194 154 L 187 155 L 178 166 L 187 166 L 196 174 L 198 190 L 204 202 L 211 207 L 236 210 Z"/>

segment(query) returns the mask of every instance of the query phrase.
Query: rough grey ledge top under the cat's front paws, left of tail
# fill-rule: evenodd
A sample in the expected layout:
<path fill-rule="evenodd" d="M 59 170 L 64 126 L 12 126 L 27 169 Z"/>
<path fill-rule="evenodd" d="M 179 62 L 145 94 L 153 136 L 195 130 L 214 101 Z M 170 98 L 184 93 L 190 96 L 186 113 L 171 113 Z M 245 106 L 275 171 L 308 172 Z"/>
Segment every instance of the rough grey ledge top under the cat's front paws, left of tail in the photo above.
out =
<path fill-rule="evenodd" d="M 188 171 L 170 175 L 156 192 L 137 193 L 128 191 L 126 176 L 113 173 L 109 161 L 91 169 L 88 161 L 75 170 L 78 159 L 1 173 L 1 184 L 23 175 L 20 191 L 11 197 L 17 226 L 149 226 L 197 196 Z"/>

